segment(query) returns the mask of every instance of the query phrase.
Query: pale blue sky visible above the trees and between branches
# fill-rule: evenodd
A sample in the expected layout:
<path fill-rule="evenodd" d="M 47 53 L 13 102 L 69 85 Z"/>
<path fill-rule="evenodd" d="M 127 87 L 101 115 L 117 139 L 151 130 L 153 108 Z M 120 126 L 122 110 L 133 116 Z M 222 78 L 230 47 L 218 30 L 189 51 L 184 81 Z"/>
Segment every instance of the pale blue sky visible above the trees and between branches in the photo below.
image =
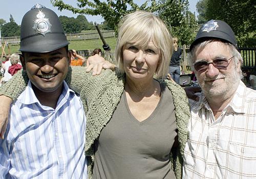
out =
<path fill-rule="evenodd" d="M 73 6 L 76 6 L 75 0 L 64 0 L 64 2 L 69 3 Z M 135 0 L 137 4 L 141 4 L 141 2 L 145 1 L 139 1 Z M 196 12 L 196 4 L 198 0 L 189 0 L 189 8 L 191 12 Z M 23 15 L 30 10 L 31 7 L 33 7 L 36 3 L 46 6 L 49 9 L 52 9 L 55 11 L 58 15 L 66 15 L 68 17 L 76 17 L 77 14 L 73 14 L 71 11 L 58 11 L 56 7 L 53 7 L 50 3 L 50 0 L 5 0 L 1 1 L 0 4 L 0 18 L 5 19 L 7 22 L 9 22 L 10 14 L 12 14 L 14 20 L 18 25 L 20 25 L 22 21 Z M 197 15 L 197 12 L 196 12 Z M 86 15 L 87 19 L 89 21 L 96 21 L 97 23 L 101 23 L 103 19 L 101 16 L 90 16 Z"/>

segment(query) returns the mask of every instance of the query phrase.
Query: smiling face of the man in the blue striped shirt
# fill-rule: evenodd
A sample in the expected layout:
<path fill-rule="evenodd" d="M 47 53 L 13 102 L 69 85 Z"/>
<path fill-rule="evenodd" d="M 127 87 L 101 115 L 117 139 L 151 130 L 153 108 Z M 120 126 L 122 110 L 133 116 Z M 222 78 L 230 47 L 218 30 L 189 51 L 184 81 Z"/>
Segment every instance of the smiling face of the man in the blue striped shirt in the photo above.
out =
<path fill-rule="evenodd" d="M 24 70 L 40 91 L 50 93 L 62 87 L 70 64 L 65 48 L 48 53 L 25 52 L 24 58 Z"/>

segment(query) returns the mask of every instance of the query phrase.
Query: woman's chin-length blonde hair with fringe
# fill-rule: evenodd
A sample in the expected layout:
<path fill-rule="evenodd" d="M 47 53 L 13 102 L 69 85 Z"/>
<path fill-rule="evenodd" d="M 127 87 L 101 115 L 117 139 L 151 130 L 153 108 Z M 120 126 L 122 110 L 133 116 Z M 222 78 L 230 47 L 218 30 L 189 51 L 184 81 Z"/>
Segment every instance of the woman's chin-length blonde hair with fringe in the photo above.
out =
<path fill-rule="evenodd" d="M 125 15 L 119 23 L 115 59 L 121 73 L 123 67 L 123 47 L 127 43 L 147 47 L 152 41 L 160 51 L 159 64 L 155 72 L 156 78 L 164 78 L 168 72 L 168 63 L 172 57 L 173 42 L 163 21 L 155 14 L 145 11 L 135 11 Z"/>

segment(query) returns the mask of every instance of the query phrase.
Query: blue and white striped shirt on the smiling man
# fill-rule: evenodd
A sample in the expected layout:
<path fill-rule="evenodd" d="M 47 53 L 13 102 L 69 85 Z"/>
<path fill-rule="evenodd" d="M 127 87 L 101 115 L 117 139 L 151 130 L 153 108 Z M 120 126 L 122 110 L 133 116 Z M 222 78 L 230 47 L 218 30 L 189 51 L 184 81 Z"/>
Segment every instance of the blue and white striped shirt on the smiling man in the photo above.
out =
<path fill-rule="evenodd" d="M 40 104 L 29 81 L 0 140 L 0 178 L 87 178 L 85 130 L 82 103 L 66 82 L 53 109 Z"/>

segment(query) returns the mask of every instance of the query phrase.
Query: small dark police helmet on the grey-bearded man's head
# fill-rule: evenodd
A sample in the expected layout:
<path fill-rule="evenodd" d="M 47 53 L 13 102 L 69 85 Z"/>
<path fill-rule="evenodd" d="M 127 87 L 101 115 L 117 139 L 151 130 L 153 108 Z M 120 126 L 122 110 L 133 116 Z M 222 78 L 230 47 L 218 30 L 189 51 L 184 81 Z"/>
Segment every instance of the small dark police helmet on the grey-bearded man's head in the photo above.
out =
<path fill-rule="evenodd" d="M 215 38 L 227 41 L 238 48 L 236 36 L 234 36 L 234 32 L 227 23 L 222 20 L 209 20 L 198 31 L 196 39 L 190 45 L 189 51 L 199 42 Z"/>

